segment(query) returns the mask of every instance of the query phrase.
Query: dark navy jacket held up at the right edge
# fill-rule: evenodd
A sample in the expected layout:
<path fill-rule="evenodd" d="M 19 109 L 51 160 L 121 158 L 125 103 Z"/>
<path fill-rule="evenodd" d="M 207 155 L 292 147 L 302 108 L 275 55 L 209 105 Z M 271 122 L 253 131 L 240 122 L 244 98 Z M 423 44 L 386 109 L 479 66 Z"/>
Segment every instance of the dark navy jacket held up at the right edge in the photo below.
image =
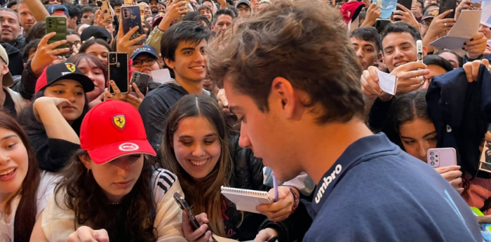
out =
<path fill-rule="evenodd" d="M 491 123 L 491 74 L 481 65 L 479 81 L 469 83 L 464 69 L 435 76 L 426 93 L 431 120 L 438 133 L 437 147 L 453 147 L 462 169 L 478 172 L 479 146 Z M 489 177 L 489 173 L 478 173 Z"/>

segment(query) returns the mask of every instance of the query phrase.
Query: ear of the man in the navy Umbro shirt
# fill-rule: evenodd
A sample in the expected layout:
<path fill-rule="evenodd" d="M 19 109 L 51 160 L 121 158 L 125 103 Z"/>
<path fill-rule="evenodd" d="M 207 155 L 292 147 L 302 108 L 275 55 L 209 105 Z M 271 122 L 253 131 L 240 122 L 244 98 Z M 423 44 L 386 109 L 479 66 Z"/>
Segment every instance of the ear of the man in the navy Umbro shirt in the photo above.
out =
<path fill-rule="evenodd" d="M 299 105 L 301 105 L 300 98 L 293 89 L 292 83 L 283 77 L 276 77 L 271 83 L 269 106 L 280 107 L 278 109 L 280 114 L 283 114 L 286 119 L 294 119 Z"/>

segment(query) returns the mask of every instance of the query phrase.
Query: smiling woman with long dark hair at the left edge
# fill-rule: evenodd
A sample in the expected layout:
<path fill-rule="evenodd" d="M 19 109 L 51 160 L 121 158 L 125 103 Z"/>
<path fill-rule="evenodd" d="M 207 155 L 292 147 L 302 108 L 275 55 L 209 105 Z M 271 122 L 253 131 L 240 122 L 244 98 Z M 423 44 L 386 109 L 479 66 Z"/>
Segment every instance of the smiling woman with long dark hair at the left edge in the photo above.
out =
<path fill-rule="evenodd" d="M 39 172 L 24 130 L 0 112 L 0 241 L 29 241 L 55 181 L 52 174 Z"/>

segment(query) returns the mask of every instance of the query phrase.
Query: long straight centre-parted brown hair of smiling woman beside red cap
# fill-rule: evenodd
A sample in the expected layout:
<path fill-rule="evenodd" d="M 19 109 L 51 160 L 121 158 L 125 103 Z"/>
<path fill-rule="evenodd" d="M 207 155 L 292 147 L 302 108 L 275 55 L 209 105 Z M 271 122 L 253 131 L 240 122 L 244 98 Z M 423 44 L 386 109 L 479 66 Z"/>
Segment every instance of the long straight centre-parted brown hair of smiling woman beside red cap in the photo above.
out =
<path fill-rule="evenodd" d="M 203 116 L 217 133 L 220 147 L 220 158 L 213 170 L 196 181 L 179 165 L 173 149 L 174 133 L 179 123 L 188 117 Z M 227 186 L 231 177 L 232 163 L 229 151 L 229 133 L 224 117 L 217 102 L 208 95 L 185 95 L 171 109 L 161 145 L 163 168 L 177 175 L 194 214 L 206 213 L 213 233 L 226 236 L 222 219 L 221 186 Z"/>

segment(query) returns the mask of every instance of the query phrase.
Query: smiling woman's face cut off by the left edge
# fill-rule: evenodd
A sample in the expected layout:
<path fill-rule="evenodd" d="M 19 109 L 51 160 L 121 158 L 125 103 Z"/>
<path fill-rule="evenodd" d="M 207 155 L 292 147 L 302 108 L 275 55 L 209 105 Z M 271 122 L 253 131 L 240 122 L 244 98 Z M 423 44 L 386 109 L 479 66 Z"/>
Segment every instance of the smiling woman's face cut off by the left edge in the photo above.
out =
<path fill-rule="evenodd" d="M 29 156 L 19 135 L 0 127 L 0 199 L 2 201 L 20 189 L 27 175 L 27 168 L 29 168 Z"/>

